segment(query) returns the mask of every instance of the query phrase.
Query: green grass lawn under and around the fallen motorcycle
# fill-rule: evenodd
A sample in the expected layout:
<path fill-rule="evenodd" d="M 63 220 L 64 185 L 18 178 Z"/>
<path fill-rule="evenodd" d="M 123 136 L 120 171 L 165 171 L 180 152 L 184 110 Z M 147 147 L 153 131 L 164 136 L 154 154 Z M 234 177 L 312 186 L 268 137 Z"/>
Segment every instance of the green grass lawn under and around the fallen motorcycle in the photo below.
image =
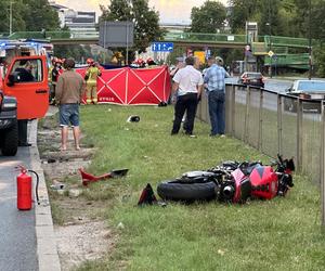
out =
<path fill-rule="evenodd" d="M 226 159 L 269 162 L 240 141 L 209 138 L 200 121 L 197 138 L 171 137 L 172 113 L 170 106 L 82 107 L 82 131 L 99 150 L 88 170 L 130 171 L 87 191 L 87 199 L 107 202 L 104 217 L 118 242 L 109 255 L 78 270 L 323 270 L 320 196 L 307 178 L 295 177 L 289 194 L 270 202 L 136 207 L 147 182 L 156 189 L 161 180 Z M 127 122 L 130 115 L 141 121 Z"/>

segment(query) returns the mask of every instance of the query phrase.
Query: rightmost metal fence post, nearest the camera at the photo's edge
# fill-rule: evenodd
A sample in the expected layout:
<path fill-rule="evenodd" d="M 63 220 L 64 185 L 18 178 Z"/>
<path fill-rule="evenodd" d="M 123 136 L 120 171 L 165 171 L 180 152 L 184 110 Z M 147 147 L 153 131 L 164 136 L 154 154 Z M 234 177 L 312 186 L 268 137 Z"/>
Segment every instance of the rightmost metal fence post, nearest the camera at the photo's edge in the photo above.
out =
<path fill-rule="evenodd" d="M 321 142 L 321 210 L 322 210 L 322 230 L 325 231 L 325 103 L 322 102 L 322 142 Z"/>

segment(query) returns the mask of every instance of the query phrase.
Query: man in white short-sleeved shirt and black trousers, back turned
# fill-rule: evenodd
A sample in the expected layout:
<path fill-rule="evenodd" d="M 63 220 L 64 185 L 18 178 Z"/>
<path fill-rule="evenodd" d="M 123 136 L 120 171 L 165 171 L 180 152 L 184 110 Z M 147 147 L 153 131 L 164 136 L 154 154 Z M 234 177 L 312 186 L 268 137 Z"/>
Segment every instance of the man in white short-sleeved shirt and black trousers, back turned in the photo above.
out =
<path fill-rule="evenodd" d="M 179 69 L 172 78 L 172 92 L 178 92 L 178 98 L 174 106 L 174 120 L 171 134 L 179 132 L 185 112 L 187 116 L 185 134 L 193 134 L 197 102 L 204 83 L 200 72 L 194 67 L 198 62 L 199 60 L 196 57 L 186 57 L 186 66 Z"/>

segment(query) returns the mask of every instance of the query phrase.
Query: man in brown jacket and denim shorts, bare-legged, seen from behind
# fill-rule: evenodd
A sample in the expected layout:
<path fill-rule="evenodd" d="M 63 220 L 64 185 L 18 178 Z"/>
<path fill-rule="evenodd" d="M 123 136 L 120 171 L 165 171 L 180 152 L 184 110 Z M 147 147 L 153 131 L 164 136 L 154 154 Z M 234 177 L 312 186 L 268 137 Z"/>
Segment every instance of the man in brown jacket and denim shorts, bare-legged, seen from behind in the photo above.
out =
<path fill-rule="evenodd" d="M 79 104 L 84 91 L 84 80 L 73 68 L 75 61 L 67 59 L 64 62 L 65 72 L 58 77 L 55 90 L 55 100 L 60 108 L 61 150 L 67 150 L 68 126 L 72 125 L 76 150 L 80 150 L 79 138 Z"/>

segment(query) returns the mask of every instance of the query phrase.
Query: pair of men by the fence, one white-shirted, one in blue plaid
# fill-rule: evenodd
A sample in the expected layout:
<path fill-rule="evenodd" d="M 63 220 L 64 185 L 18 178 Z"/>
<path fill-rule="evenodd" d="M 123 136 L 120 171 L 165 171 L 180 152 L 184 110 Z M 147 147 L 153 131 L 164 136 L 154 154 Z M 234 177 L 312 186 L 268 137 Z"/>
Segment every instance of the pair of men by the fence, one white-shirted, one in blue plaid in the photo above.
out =
<path fill-rule="evenodd" d="M 199 60 L 195 56 L 185 59 L 185 67 L 178 67 L 173 75 L 172 95 L 177 94 L 174 120 L 171 134 L 177 134 L 186 113 L 183 128 L 185 134 L 194 136 L 194 119 L 197 104 L 205 89 L 208 96 L 209 116 L 211 122 L 210 137 L 224 137 L 224 102 L 225 82 L 230 77 L 223 68 L 223 60 L 219 56 L 208 59 L 209 68 L 203 76 L 198 70 Z"/>

